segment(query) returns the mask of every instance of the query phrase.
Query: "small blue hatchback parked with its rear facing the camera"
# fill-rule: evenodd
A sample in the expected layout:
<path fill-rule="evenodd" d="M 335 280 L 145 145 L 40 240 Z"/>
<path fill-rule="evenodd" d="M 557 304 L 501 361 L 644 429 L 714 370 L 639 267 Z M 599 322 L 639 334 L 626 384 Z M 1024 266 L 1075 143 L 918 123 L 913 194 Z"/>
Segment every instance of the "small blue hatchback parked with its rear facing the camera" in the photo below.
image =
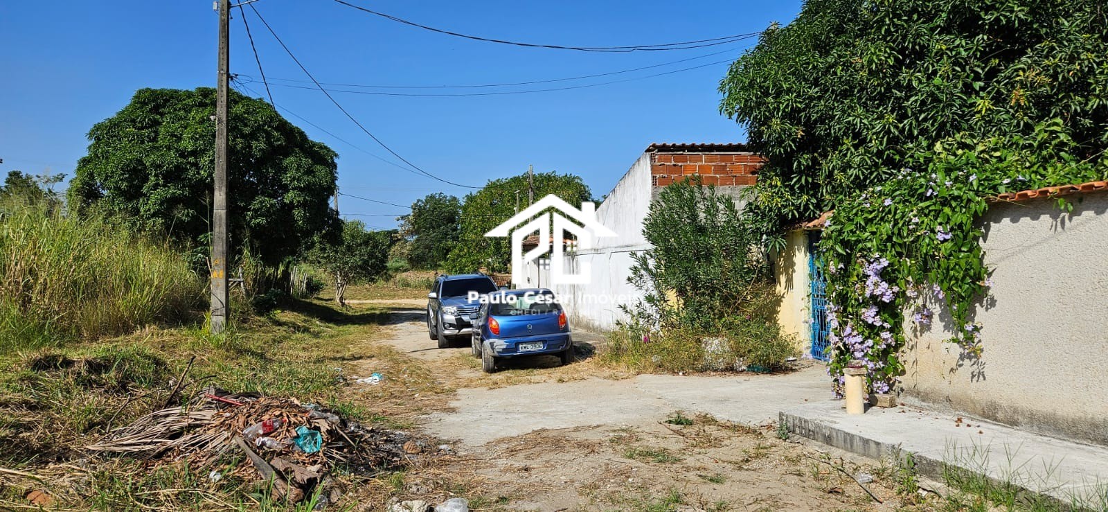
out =
<path fill-rule="evenodd" d="M 543 354 L 558 356 L 563 365 L 574 359 L 570 321 L 550 289 L 491 293 L 470 321 L 473 356 L 485 372 L 496 371 L 497 359 Z"/>

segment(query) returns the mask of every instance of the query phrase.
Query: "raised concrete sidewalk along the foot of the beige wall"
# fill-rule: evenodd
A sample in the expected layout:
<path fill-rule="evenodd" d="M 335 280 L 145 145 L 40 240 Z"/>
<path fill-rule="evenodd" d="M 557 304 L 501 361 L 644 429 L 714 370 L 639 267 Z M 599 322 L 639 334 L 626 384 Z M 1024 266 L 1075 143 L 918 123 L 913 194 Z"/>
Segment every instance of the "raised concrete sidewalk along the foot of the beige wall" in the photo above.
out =
<path fill-rule="evenodd" d="M 961 421 L 960 421 L 961 420 Z M 838 400 L 789 408 L 790 432 L 870 458 L 912 453 L 921 474 L 943 480 L 944 464 L 1108 510 L 1108 449 L 911 407 L 849 416 Z"/>

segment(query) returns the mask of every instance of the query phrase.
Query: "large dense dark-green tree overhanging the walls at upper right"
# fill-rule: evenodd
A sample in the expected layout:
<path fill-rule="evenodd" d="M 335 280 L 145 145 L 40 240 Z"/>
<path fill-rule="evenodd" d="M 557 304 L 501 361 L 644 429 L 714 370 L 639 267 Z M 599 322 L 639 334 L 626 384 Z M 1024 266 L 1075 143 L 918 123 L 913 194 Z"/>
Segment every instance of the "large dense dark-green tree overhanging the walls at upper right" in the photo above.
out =
<path fill-rule="evenodd" d="M 810 0 L 720 82 L 720 111 L 768 158 L 763 235 L 892 178 L 947 137 L 1108 146 L 1108 10 L 1097 0 Z M 777 238 L 780 239 L 780 238 Z"/>

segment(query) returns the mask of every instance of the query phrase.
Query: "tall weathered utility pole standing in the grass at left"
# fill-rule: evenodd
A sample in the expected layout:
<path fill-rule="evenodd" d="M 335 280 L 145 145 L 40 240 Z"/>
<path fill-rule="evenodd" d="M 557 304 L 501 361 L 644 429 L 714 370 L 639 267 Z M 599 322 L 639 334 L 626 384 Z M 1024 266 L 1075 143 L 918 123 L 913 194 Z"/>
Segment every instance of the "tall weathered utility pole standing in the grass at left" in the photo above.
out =
<path fill-rule="evenodd" d="M 212 208 L 212 334 L 227 325 L 227 80 L 230 0 L 219 0 L 219 50 L 215 100 L 215 191 Z"/>

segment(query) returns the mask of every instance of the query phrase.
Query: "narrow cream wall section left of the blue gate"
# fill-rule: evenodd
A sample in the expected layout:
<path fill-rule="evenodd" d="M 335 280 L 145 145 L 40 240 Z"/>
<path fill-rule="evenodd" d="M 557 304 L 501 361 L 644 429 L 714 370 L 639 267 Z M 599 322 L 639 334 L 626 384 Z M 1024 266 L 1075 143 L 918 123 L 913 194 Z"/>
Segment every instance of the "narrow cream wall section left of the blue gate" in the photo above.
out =
<path fill-rule="evenodd" d="M 808 232 L 793 229 L 784 236 L 786 248 L 773 257 L 777 281 L 777 321 L 781 330 L 797 337 L 797 349 L 811 357 L 811 283 L 808 274 Z"/>

